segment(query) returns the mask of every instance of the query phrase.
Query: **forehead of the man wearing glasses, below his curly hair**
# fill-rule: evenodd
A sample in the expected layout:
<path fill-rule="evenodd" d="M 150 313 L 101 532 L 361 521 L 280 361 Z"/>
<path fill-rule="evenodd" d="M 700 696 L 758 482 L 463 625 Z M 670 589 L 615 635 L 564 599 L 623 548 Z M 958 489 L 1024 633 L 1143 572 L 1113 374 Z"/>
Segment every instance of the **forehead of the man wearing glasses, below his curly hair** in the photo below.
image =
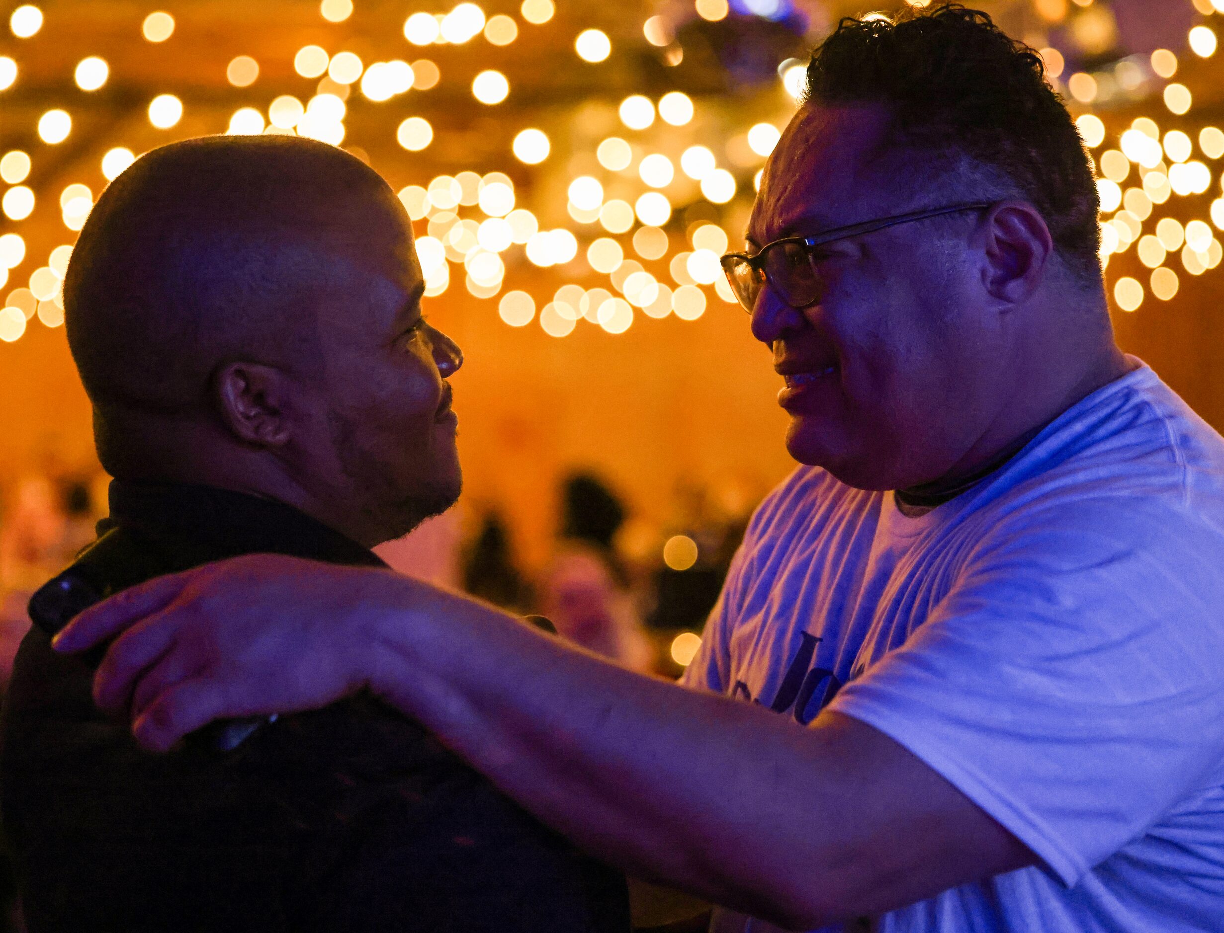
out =
<path fill-rule="evenodd" d="M 862 220 L 859 205 L 875 187 L 870 163 L 887 126 L 879 105 L 800 108 L 765 168 L 749 237 L 764 243 Z"/>

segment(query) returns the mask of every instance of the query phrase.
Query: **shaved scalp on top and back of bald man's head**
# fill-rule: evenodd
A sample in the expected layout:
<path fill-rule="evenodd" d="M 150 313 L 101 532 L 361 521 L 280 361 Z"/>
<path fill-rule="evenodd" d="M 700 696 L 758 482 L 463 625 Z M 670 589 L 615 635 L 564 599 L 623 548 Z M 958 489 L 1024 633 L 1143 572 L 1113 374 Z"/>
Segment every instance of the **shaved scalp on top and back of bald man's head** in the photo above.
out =
<path fill-rule="evenodd" d="M 137 159 L 91 212 L 64 282 L 100 419 L 196 405 L 235 357 L 317 367 L 319 254 L 351 240 L 355 212 L 388 202 L 361 160 L 296 137 L 204 137 Z"/>

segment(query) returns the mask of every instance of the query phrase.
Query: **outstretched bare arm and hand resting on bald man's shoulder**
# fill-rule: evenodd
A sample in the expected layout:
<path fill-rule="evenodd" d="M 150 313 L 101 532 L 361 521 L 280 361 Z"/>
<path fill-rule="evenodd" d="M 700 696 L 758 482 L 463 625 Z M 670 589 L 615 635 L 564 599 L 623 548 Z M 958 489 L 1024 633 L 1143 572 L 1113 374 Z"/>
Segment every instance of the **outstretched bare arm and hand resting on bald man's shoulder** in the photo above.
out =
<path fill-rule="evenodd" d="M 1034 861 L 854 719 L 826 713 L 800 729 L 384 571 L 273 556 L 209 565 L 91 610 L 56 647 L 115 632 L 95 698 L 130 709 L 149 747 L 219 717 L 368 687 L 589 851 L 789 928 Z"/>

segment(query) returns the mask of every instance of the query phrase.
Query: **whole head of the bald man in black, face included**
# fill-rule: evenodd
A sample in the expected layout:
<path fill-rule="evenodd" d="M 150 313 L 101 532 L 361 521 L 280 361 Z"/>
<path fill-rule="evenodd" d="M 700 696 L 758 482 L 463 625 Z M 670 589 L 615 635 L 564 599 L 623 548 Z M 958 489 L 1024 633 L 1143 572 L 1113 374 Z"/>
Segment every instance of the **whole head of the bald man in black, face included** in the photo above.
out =
<path fill-rule="evenodd" d="M 454 501 L 446 383 L 411 223 L 324 143 L 218 136 L 137 159 L 64 282 L 103 466 L 297 505 L 372 543 Z"/>

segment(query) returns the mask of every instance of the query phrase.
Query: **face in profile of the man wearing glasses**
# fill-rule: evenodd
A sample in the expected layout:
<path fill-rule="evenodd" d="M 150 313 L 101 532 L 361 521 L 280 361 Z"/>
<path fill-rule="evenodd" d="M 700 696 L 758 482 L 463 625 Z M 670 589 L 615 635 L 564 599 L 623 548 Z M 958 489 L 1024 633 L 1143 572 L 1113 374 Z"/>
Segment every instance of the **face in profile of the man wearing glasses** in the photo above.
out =
<path fill-rule="evenodd" d="M 766 168 L 748 249 L 787 236 L 974 198 L 907 182 L 878 158 L 883 108 L 805 104 Z M 892 165 L 892 170 L 890 170 Z M 821 247 L 824 289 L 805 308 L 769 287 L 753 334 L 786 377 L 787 449 L 864 489 L 898 489 L 950 470 L 980 432 L 990 388 L 988 314 L 972 291 L 977 215 L 919 221 Z M 1015 391 L 1016 386 L 1011 386 Z"/>

